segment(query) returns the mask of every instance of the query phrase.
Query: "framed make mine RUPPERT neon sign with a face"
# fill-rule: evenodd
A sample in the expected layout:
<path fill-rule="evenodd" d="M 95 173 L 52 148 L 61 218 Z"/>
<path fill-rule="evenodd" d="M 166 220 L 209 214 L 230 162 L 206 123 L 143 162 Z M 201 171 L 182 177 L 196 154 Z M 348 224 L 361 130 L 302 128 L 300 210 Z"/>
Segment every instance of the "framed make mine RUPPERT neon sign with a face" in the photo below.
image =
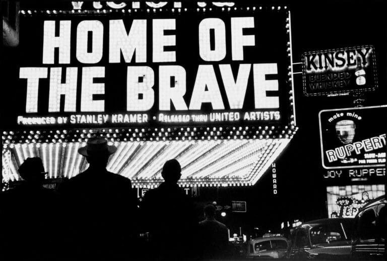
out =
<path fill-rule="evenodd" d="M 387 106 L 322 110 L 321 160 L 326 169 L 385 167 Z"/>

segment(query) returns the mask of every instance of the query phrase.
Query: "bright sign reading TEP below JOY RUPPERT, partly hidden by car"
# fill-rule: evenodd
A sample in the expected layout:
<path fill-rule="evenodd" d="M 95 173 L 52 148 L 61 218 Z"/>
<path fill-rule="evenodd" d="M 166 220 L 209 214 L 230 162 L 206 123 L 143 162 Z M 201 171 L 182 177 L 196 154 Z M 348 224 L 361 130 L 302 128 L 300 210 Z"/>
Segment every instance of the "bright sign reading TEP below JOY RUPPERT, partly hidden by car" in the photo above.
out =
<path fill-rule="evenodd" d="M 327 187 L 329 218 L 354 218 L 371 200 L 385 193 L 384 185 L 348 185 Z"/>

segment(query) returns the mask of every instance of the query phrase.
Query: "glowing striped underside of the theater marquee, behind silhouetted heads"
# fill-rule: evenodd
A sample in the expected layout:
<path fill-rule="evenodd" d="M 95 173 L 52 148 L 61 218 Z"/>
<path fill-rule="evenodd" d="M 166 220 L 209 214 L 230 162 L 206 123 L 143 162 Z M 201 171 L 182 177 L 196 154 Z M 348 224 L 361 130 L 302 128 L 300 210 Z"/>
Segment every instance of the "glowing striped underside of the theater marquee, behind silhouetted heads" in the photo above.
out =
<path fill-rule="evenodd" d="M 107 169 L 132 179 L 135 186 L 157 186 L 166 160 L 182 167 L 181 186 L 253 185 L 290 139 L 115 142 L 117 152 Z M 17 172 L 28 157 L 41 157 L 49 178 L 71 178 L 88 163 L 78 149 L 84 143 L 13 144 L 3 150 L 3 182 L 20 180 Z"/>

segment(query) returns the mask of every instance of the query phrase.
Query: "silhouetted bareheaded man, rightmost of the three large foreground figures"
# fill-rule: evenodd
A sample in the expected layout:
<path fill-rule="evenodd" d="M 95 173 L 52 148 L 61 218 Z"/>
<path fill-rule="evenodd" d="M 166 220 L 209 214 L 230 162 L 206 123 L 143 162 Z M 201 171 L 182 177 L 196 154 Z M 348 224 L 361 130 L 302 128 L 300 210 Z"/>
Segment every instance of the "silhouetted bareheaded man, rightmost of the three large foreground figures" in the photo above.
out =
<path fill-rule="evenodd" d="M 164 182 L 146 192 L 141 204 L 145 228 L 151 232 L 152 251 L 159 260 L 186 260 L 197 251 L 195 210 L 177 181 L 181 176 L 177 160 L 162 169 Z"/>

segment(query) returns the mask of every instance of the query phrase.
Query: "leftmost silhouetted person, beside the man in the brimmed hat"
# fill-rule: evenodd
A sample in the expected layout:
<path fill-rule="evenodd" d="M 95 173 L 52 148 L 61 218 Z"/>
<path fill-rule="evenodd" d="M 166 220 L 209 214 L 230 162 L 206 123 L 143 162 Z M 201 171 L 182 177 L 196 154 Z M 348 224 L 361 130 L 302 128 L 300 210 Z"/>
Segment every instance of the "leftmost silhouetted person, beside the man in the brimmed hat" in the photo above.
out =
<path fill-rule="evenodd" d="M 42 186 L 45 179 L 40 158 L 27 158 L 19 167 L 23 178 L 1 195 L 1 260 L 43 260 L 56 253 L 56 193 Z"/>

